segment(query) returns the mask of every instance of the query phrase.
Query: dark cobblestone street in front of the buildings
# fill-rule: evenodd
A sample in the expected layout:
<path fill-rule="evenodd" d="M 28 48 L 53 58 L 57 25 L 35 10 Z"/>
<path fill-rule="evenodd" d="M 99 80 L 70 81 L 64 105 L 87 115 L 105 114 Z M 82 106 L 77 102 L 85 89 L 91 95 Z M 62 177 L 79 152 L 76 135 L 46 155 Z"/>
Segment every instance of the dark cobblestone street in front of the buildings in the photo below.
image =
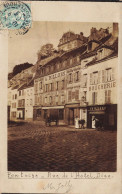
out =
<path fill-rule="evenodd" d="M 9 126 L 8 170 L 114 172 L 116 132 L 40 122 Z"/>

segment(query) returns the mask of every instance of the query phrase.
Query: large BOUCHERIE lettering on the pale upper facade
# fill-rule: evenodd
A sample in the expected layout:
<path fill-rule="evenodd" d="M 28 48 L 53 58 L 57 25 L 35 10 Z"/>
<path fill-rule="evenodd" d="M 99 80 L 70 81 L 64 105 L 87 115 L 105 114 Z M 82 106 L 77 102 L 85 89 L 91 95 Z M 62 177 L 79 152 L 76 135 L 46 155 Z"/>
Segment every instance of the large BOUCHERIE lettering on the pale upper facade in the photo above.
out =
<path fill-rule="evenodd" d="M 105 84 L 98 84 L 98 85 L 93 85 L 89 87 L 89 91 L 93 90 L 101 90 L 101 89 L 108 89 L 108 88 L 113 88 L 116 87 L 116 82 L 110 82 L 110 83 L 105 83 Z"/>

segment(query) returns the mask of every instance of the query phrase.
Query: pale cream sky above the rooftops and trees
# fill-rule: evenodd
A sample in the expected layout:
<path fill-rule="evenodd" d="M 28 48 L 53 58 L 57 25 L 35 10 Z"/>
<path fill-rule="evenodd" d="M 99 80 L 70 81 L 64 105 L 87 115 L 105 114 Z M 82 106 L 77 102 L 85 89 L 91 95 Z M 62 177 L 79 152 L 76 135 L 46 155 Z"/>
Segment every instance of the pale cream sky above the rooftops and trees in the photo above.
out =
<path fill-rule="evenodd" d="M 8 38 L 8 70 L 12 72 L 15 65 L 21 63 L 32 63 L 37 61 L 37 52 L 41 46 L 52 43 L 57 49 L 59 39 L 63 33 L 73 31 L 79 34 L 83 32 L 84 36 L 90 35 L 90 29 L 96 27 L 110 28 L 112 23 L 83 23 L 83 22 L 33 22 L 32 27 L 24 35 L 12 33 Z"/>

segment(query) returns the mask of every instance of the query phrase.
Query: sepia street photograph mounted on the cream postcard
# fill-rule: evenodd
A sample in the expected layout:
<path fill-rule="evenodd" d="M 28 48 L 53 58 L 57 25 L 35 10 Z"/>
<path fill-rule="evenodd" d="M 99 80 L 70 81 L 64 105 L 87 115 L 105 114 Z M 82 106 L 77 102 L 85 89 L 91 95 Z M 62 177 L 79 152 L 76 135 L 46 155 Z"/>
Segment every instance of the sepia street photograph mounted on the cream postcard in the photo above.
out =
<path fill-rule="evenodd" d="M 118 23 L 8 37 L 8 171 L 116 172 Z"/>

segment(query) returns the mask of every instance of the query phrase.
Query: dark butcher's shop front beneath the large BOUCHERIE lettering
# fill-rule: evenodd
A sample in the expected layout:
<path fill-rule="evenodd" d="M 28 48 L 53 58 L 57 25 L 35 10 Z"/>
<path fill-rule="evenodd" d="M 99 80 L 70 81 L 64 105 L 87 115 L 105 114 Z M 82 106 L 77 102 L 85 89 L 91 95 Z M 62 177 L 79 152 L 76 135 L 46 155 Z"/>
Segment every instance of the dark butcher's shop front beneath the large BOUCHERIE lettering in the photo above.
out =
<path fill-rule="evenodd" d="M 87 108 L 87 127 L 96 128 L 98 120 L 105 130 L 117 129 L 117 105 L 96 105 Z"/>

